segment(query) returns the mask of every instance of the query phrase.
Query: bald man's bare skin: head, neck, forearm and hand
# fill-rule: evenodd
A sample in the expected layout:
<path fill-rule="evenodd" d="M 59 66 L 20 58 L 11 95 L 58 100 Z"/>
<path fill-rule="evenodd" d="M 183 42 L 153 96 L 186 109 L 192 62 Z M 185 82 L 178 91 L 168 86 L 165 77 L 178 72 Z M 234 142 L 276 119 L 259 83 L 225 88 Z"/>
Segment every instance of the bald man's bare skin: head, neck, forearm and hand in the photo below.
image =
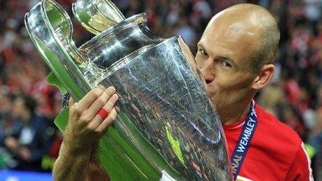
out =
<path fill-rule="evenodd" d="M 276 37 L 270 40 L 272 43 L 266 49 L 272 55 L 269 60 L 254 60 L 262 51 L 259 47 L 262 47 L 266 30 Z M 269 12 L 251 4 L 223 10 L 208 24 L 198 42 L 196 62 L 223 124 L 235 123 L 244 117 L 256 92 L 273 77 L 272 62 L 279 36 L 276 21 Z M 115 89 L 111 89 L 109 87 L 103 94 L 103 88 L 95 88 L 79 103 L 71 103 L 69 125 L 53 168 L 55 180 L 85 180 L 90 175 L 94 145 L 117 115 L 113 108 L 117 96 L 112 96 L 116 94 Z M 112 110 L 107 121 L 99 120 L 96 115 L 104 104 Z"/>

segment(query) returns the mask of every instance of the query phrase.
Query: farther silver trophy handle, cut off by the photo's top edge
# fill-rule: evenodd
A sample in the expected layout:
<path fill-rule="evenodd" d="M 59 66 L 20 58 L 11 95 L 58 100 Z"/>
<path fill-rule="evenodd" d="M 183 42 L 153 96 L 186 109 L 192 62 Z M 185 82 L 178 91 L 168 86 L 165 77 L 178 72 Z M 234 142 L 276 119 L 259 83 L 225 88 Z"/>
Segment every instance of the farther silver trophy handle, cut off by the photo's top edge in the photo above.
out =
<path fill-rule="evenodd" d="M 95 35 L 125 19 L 110 0 L 78 0 L 73 3 L 72 10 L 80 24 Z"/>

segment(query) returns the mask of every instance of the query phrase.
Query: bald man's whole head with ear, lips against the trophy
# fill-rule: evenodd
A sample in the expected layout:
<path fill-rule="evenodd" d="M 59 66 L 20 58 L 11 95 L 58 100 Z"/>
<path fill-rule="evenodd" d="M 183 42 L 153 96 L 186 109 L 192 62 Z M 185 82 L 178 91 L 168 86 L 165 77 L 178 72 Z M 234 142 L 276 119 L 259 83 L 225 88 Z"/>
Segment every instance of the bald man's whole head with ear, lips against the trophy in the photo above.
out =
<path fill-rule="evenodd" d="M 269 83 L 279 40 L 275 19 L 260 6 L 238 4 L 210 20 L 196 62 L 219 114 L 249 103 Z"/>

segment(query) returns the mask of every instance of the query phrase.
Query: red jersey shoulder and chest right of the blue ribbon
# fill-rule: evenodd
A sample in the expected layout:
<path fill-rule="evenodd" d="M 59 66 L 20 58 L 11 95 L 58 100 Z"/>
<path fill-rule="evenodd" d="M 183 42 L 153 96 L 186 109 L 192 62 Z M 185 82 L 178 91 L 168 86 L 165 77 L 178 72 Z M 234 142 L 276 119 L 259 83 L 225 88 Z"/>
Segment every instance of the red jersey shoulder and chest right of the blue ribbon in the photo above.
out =
<path fill-rule="evenodd" d="M 305 154 L 298 156 L 304 153 L 298 134 L 259 105 L 255 110 L 257 128 L 240 175 L 252 180 L 286 180 L 289 176 L 301 175 L 307 159 Z"/>

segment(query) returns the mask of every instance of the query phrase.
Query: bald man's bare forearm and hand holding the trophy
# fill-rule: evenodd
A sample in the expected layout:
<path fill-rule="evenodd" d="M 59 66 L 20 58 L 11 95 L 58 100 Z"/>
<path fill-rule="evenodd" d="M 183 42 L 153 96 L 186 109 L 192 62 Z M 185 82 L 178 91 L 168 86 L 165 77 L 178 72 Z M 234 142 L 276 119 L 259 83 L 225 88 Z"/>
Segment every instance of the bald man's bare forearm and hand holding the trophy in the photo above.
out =
<path fill-rule="evenodd" d="M 96 165 L 91 161 L 91 155 L 96 154 L 94 146 L 116 119 L 118 98 L 114 87 L 99 86 L 78 103 L 70 101 L 68 125 L 53 166 L 54 180 L 88 180 L 91 165 Z M 110 112 L 104 120 L 97 114 L 101 107 Z"/>

